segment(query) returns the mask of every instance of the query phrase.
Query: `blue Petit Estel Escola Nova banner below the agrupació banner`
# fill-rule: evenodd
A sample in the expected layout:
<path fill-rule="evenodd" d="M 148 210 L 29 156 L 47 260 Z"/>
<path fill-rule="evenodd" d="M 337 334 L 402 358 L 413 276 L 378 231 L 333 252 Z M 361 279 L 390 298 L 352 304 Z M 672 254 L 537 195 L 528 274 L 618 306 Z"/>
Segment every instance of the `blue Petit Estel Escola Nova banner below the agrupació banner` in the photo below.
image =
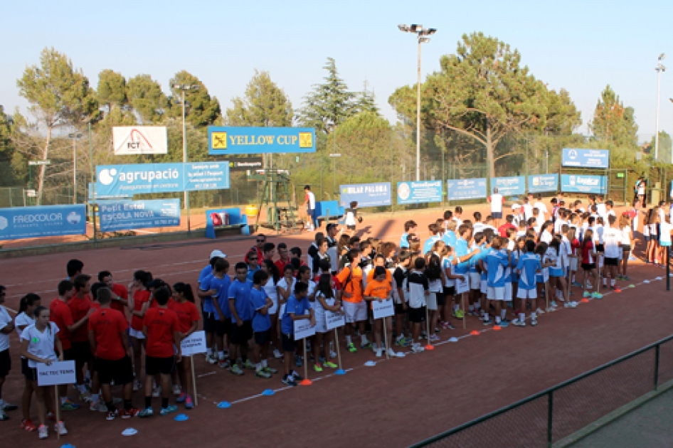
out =
<path fill-rule="evenodd" d="M 179 227 L 180 200 L 100 201 L 98 218 L 101 232 Z"/>

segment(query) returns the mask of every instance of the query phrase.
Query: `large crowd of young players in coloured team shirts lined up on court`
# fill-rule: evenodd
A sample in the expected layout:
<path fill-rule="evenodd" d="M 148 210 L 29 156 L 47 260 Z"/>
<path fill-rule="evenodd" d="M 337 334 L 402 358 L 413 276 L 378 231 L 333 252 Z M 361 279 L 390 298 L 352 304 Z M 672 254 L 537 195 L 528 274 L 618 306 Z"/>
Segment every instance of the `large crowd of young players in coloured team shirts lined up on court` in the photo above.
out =
<path fill-rule="evenodd" d="M 581 201 L 566 204 L 559 194 L 548 208 L 529 195 L 503 220 L 502 196 L 494 191 L 489 202 L 485 218 L 477 211 L 467 219 L 460 206 L 445 211 L 428 226 L 423 242 L 413 220 L 404 224 L 398 244 L 364 240 L 334 223 L 315 233 L 306 251 L 256 235 L 255 245 L 231 270 L 227 255 L 213 250 L 196 292 L 190 284 L 169 285 L 142 270 L 128 286 L 115 283 L 108 271 L 92 284 L 83 262 L 70 260 L 68 278 L 48 306 L 37 294 L 26 294 L 15 319 L 0 306 L 0 420 L 16 410 L 1 398 L 11 368 L 12 331 L 21 341 L 25 377 L 21 427 L 45 438 L 55 398 L 53 388 L 38 385 L 38 363 L 75 361 L 79 401 L 105 412 L 107 420 L 150 417 L 153 398 L 161 400 L 159 415 L 168 415 L 177 405 L 194 407 L 193 358 L 181 356 L 180 347 L 200 320 L 206 362 L 262 379 L 282 368 L 282 383 L 293 386 L 303 379 L 296 368 L 304 363 L 316 372 L 339 367 L 339 341 L 327 330 L 328 314 L 344 316 L 339 331 L 346 351 L 371 348 L 377 357 L 386 352 L 403 357 L 454 329 L 452 319 L 476 316 L 484 325 L 536 326 L 539 314 L 560 304 L 576 306 L 571 285 L 581 287 L 587 299 L 600 299 L 601 284 L 614 289 L 618 280 L 629 279 L 638 204 L 618 216 L 613 203 L 600 196 L 590 196 L 585 208 Z M 645 217 L 653 262 L 661 262 L 661 247 L 670 245 L 669 218 L 664 204 Z M 652 235 L 659 235 L 657 242 Z M 5 294 L 0 287 L 0 305 Z M 393 303 L 393 316 L 373 319 L 373 303 L 385 300 Z M 301 320 L 315 329 L 306 341 L 308 359 L 295 341 L 295 321 Z M 122 386 L 121 398 L 112 396 L 112 385 Z M 144 403 L 136 407 L 132 394 L 140 390 Z M 175 404 L 169 402 L 171 392 Z M 38 425 L 31 420 L 33 394 Z M 60 387 L 58 395 L 60 410 L 80 407 L 68 398 L 68 387 Z M 67 433 L 62 421 L 54 422 L 54 430 Z"/>

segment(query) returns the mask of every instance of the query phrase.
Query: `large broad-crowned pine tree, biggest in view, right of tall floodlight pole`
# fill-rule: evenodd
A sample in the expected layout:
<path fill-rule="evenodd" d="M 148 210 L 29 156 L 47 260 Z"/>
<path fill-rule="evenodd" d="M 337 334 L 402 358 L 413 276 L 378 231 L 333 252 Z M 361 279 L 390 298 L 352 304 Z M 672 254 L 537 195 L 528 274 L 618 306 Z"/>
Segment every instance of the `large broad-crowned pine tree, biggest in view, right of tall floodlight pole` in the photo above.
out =
<path fill-rule="evenodd" d="M 440 66 L 421 87 L 421 119 L 428 129 L 450 130 L 484 147 L 488 174 L 495 176 L 495 162 L 515 154 L 497 153 L 498 143 L 545 126 L 546 87 L 521 66 L 519 51 L 483 33 L 463 35 L 456 53 L 443 56 Z M 401 87 L 388 100 L 406 122 L 415 119 L 414 91 Z"/>

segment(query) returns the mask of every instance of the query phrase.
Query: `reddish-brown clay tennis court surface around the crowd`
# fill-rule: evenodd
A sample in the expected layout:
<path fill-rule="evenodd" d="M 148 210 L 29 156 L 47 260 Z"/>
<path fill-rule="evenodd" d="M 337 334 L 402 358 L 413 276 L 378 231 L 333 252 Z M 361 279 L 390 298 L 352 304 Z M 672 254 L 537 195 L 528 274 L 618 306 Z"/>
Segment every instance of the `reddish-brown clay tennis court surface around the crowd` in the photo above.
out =
<path fill-rule="evenodd" d="M 481 210 L 486 211 L 486 206 Z M 398 242 L 403 222 L 413 218 L 425 239 L 423 229 L 440 214 L 418 210 L 366 216 L 359 233 Z M 311 239 L 312 234 L 270 237 L 272 242 L 296 242 L 304 249 Z M 198 272 L 207 264 L 211 250 L 221 249 L 236 262 L 253 244 L 253 238 L 190 240 L 0 260 L 0 282 L 8 289 L 5 305 L 13 310 L 27 292 L 40 294 L 43 304 L 51 302 L 56 284 L 65 277 L 65 262 L 73 257 L 83 260 L 86 273 L 110 270 L 115 281 L 123 284 L 128 284 L 134 270 L 144 269 L 171 284 L 184 281 L 196 287 Z M 158 415 L 147 420 L 107 422 L 104 414 L 83 406 L 64 413 L 67 436 L 59 441 L 51 431 L 48 440 L 38 441 L 37 434 L 19 429 L 21 410 L 17 410 L 9 412 L 11 420 L 0 423 L 2 438 L 18 447 L 38 443 L 45 447 L 70 443 L 78 448 L 122 444 L 404 447 L 671 334 L 673 302 L 665 291 L 665 279 L 642 284 L 643 279 L 665 277 L 664 270 L 638 263 L 630 265 L 629 275 L 630 282 L 618 284 L 635 284 L 635 288 L 605 294 L 602 300 L 576 309 L 544 314 L 536 327 L 509 326 L 493 331 L 486 330 L 477 318 L 468 318 L 464 331 L 454 319 L 458 329 L 442 331 L 442 342 L 432 352 L 386 361 L 375 358 L 370 350 L 355 354 L 342 350 L 348 373 L 335 376 L 327 370 L 322 374 L 309 370 L 309 378 L 314 380 L 310 386 L 286 388 L 280 375 L 271 380 L 255 378 L 251 372 L 235 377 L 196 356 L 198 407 L 186 412 L 190 417 L 186 422 Z M 578 299 L 579 290 L 573 290 L 573 299 Z M 474 329 L 482 333 L 461 337 Z M 452 336 L 459 341 L 446 342 Z M 18 404 L 23 376 L 16 332 L 11 336 L 11 353 L 13 370 L 4 386 L 4 399 Z M 673 359 L 664 358 L 662 363 L 673 363 Z M 369 360 L 377 361 L 376 366 L 365 367 Z M 270 364 L 280 368 L 280 361 Z M 260 396 L 267 388 L 274 389 L 275 395 Z M 70 395 L 74 398 L 72 389 Z M 216 403 L 223 400 L 232 406 L 218 409 Z M 134 394 L 134 405 L 142 405 L 142 393 Z M 185 411 L 180 408 L 179 412 Z M 34 404 L 32 413 L 35 417 Z M 121 432 L 127 427 L 134 427 L 138 434 L 123 437 Z M 507 445 L 507 441 L 503 443 Z"/>

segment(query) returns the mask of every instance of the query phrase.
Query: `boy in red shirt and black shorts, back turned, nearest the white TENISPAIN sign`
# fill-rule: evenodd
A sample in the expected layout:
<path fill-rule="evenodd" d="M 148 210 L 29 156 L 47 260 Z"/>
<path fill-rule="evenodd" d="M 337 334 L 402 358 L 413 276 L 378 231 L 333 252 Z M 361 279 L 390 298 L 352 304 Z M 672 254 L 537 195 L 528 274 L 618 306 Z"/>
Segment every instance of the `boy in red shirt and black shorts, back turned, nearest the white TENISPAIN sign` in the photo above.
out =
<path fill-rule="evenodd" d="M 138 417 L 152 417 L 152 378 L 161 375 L 161 412 L 168 415 L 178 407 L 169 405 L 171 390 L 171 373 L 175 363 L 180 362 L 182 353 L 180 348 L 181 333 L 178 315 L 168 309 L 171 293 L 166 287 L 154 291 L 154 300 L 157 308 L 150 308 L 145 313 L 142 322 L 142 334 L 145 343 L 145 408 Z M 174 356 L 174 353 L 176 355 Z"/>

